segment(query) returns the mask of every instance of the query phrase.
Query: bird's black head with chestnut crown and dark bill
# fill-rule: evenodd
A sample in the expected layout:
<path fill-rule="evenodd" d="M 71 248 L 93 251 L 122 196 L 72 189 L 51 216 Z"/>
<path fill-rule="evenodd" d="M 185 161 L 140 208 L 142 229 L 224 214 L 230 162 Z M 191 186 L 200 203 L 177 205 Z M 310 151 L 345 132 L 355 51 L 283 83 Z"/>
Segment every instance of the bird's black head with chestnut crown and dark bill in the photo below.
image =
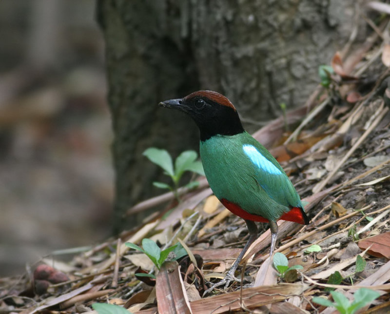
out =
<path fill-rule="evenodd" d="M 166 100 L 158 105 L 184 111 L 193 118 L 202 141 L 214 135 L 244 132 L 234 105 L 228 98 L 213 91 L 197 91 L 184 98 Z"/>

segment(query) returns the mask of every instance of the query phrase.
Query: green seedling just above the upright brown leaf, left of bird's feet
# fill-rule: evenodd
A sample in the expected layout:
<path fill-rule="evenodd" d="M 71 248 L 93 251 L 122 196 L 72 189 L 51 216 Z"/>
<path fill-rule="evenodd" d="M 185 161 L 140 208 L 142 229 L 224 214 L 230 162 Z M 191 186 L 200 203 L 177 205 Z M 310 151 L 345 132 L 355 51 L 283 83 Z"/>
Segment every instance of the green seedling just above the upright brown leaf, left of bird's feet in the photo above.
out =
<path fill-rule="evenodd" d="M 157 269 L 160 269 L 162 263 L 167 259 L 170 252 L 175 253 L 175 260 L 184 255 L 187 255 L 186 250 L 184 250 L 183 246 L 180 243 L 170 246 L 165 250 L 161 250 L 155 241 L 148 238 L 142 239 L 142 248 L 140 248 L 138 245 L 131 242 L 126 242 L 125 245 L 129 248 L 132 248 L 134 250 L 146 254 L 153 262 L 153 264 L 156 265 Z M 138 273 L 136 275 L 144 276 L 144 277 L 152 277 L 156 279 L 156 276 L 152 274 Z"/>

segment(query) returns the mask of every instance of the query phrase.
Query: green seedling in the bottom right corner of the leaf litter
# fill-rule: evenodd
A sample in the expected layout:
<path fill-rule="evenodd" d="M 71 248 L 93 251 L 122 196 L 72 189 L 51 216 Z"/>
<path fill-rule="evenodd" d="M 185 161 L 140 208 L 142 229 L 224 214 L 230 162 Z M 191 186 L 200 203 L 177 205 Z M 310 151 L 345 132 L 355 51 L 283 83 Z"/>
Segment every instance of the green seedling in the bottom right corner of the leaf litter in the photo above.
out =
<path fill-rule="evenodd" d="M 313 297 L 312 301 L 322 306 L 334 307 L 341 314 L 353 314 L 357 310 L 375 300 L 379 295 L 380 294 L 376 291 L 367 288 L 360 288 L 353 294 L 352 303 L 344 294 L 337 291 L 331 292 L 331 296 L 334 302 L 319 296 Z"/>

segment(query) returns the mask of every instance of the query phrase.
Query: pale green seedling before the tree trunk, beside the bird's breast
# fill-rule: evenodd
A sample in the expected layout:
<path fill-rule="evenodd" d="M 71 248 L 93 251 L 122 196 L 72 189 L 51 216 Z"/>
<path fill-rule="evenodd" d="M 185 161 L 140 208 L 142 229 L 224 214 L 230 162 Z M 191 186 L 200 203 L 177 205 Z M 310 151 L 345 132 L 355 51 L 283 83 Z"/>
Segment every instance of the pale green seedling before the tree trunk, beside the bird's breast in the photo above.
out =
<path fill-rule="evenodd" d="M 175 160 L 175 167 L 171 155 L 165 149 L 150 147 L 145 150 L 142 155 L 160 166 L 164 170 L 164 173 L 171 177 L 173 182 L 172 185 L 163 182 L 153 182 L 153 185 L 160 189 L 171 190 L 174 192 L 176 198 L 178 198 L 177 188 L 179 187 L 179 181 L 186 171 L 192 171 L 204 176 L 202 163 L 199 160 L 196 160 L 198 155 L 195 151 L 182 152 Z M 193 181 L 185 185 L 185 187 L 195 188 L 198 184 L 199 182 Z"/>

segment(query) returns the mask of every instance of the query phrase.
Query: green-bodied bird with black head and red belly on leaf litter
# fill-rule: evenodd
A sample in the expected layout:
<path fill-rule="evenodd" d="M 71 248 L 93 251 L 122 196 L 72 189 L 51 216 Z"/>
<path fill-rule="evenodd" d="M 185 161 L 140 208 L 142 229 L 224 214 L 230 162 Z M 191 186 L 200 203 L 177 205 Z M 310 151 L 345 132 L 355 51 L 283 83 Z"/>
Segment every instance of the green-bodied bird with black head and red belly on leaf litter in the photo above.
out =
<path fill-rule="evenodd" d="M 200 131 L 199 155 L 210 188 L 219 201 L 247 224 L 249 238 L 221 285 L 238 281 L 234 273 L 257 237 L 255 222 L 271 230 L 270 256 L 277 239 L 279 219 L 309 224 L 302 201 L 291 180 L 271 153 L 246 132 L 233 103 L 225 96 L 200 90 L 184 98 L 158 104 L 177 109 L 194 121 Z"/>

